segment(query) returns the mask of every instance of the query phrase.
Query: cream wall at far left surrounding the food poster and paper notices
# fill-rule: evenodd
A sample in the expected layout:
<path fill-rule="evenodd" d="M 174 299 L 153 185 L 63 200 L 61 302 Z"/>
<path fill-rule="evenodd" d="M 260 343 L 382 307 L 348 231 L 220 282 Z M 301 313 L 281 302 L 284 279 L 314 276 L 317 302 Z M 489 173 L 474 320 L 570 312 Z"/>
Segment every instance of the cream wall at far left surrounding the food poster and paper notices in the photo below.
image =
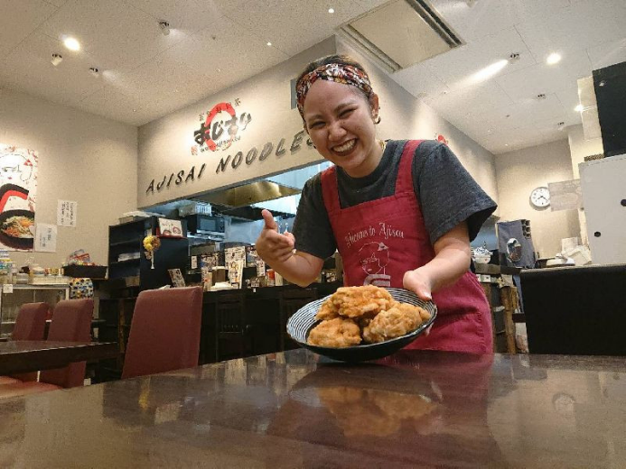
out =
<path fill-rule="evenodd" d="M 39 153 L 36 223 L 56 225 L 57 200 L 76 200 L 78 224 L 58 227 L 56 253 L 11 253 L 22 265 L 61 266 L 83 248 L 107 264 L 108 225 L 136 207 L 137 129 L 0 89 L 0 143 Z"/>

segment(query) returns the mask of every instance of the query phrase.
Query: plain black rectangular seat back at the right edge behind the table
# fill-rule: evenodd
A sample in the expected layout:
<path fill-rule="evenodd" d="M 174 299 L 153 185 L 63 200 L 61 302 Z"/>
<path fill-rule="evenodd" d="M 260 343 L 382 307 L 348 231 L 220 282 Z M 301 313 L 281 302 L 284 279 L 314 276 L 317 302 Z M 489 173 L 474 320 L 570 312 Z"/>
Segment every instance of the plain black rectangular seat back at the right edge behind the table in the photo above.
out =
<path fill-rule="evenodd" d="M 626 355 L 626 264 L 522 271 L 531 354 Z"/>

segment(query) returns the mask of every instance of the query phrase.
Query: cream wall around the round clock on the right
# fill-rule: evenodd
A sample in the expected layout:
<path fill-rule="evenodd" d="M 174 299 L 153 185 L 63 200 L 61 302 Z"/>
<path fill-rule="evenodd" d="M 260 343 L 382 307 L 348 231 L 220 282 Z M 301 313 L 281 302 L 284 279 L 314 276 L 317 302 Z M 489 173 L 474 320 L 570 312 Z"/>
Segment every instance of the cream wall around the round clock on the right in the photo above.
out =
<path fill-rule="evenodd" d="M 572 179 L 572 161 L 566 140 L 546 143 L 496 157 L 500 194 L 500 220 L 530 220 L 530 230 L 540 257 L 561 251 L 561 239 L 578 236 L 580 226 L 575 210 L 553 212 L 530 205 L 532 189 L 549 182 Z"/>

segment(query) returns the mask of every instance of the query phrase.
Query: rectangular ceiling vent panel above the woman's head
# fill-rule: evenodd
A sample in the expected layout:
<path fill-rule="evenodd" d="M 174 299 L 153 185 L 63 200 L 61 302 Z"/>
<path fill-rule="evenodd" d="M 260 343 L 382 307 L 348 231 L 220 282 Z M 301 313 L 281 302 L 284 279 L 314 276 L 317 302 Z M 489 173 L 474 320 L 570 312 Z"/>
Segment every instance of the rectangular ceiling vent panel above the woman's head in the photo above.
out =
<path fill-rule="evenodd" d="M 389 72 L 463 44 L 425 0 L 393 0 L 344 24 L 340 31 Z"/>

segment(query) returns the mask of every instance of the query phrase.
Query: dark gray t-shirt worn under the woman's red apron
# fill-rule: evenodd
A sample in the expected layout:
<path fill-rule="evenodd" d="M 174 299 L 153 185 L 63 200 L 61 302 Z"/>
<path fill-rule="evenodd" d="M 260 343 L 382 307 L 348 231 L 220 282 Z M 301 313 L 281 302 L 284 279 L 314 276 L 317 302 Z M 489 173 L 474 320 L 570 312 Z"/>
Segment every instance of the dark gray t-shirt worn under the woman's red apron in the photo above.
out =
<path fill-rule="evenodd" d="M 364 178 L 351 178 L 337 167 L 341 208 L 394 194 L 405 143 L 406 140 L 388 141 L 378 167 Z M 412 176 L 426 231 L 433 244 L 462 221 L 467 221 L 472 241 L 497 207 L 443 143 L 426 140 L 417 147 Z M 320 174 L 304 184 L 293 233 L 298 251 L 326 259 L 337 249 L 323 202 Z"/>

